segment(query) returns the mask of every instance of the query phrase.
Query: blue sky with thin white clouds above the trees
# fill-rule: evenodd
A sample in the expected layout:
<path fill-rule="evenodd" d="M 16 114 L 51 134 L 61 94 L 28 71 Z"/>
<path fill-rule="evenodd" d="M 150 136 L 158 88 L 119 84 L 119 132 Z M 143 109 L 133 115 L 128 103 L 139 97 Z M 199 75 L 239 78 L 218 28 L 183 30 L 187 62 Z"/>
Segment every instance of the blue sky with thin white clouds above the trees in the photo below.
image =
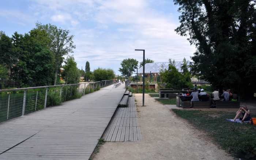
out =
<path fill-rule="evenodd" d="M 179 26 L 178 6 L 172 0 L 1 0 L 0 30 L 11 36 L 28 33 L 36 22 L 51 23 L 74 35 L 78 68 L 90 62 L 91 71 L 118 68 L 125 58 L 182 61 L 195 52 Z"/>

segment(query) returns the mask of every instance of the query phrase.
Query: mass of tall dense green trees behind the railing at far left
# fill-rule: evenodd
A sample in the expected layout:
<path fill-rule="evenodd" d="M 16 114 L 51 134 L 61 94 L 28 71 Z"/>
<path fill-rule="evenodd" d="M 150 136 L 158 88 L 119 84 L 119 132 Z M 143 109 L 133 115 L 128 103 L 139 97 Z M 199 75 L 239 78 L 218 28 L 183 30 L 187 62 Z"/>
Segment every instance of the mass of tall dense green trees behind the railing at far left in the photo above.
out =
<path fill-rule="evenodd" d="M 73 36 L 52 24 L 36 23 L 29 33 L 8 37 L 0 31 L 0 65 L 17 87 L 57 83 L 64 55 L 72 53 Z"/>

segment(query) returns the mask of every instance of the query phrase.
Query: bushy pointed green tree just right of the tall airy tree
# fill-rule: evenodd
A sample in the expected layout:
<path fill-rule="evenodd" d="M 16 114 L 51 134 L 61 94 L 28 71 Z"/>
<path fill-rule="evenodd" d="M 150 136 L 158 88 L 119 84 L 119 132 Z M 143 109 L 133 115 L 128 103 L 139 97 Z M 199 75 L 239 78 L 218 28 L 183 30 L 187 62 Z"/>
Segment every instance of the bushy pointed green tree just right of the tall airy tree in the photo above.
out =
<path fill-rule="evenodd" d="M 63 66 L 63 78 L 66 84 L 76 84 L 80 80 L 80 72 L 76 66 L 75 58 L 73 56 L 68 56 L 65 60 L 65 65 Z"/>

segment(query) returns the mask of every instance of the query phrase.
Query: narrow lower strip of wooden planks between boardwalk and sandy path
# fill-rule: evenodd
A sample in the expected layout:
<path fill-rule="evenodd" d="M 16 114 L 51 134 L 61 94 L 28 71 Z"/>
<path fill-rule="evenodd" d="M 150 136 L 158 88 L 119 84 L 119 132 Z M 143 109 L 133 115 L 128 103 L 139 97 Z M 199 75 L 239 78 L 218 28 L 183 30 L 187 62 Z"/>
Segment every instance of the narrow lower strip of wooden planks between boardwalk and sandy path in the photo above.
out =
<path fill-rule="evenodd" d="M 141 140 L 134 97 L 129 97 L 128 107 L 117 108 L 102 137 L 106 141 L 113 142 L 137 142 Z"/>

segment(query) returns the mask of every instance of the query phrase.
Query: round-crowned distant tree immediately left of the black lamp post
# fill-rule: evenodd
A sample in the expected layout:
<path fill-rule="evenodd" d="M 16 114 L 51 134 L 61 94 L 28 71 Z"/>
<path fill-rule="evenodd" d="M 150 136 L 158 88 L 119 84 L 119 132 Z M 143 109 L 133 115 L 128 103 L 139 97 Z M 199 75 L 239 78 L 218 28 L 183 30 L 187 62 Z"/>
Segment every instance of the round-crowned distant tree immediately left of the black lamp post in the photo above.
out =
<path fill-rule="evenodd" d="M 127 75 L 128 77 L 132 75 L 133 72 L 135 72 L 135 69 L 138 68 L 138 61 L 133 58 L 124 59 L 121 62 L 121 67 L 118 71 L 122 73 L 122 75 Z"/>

